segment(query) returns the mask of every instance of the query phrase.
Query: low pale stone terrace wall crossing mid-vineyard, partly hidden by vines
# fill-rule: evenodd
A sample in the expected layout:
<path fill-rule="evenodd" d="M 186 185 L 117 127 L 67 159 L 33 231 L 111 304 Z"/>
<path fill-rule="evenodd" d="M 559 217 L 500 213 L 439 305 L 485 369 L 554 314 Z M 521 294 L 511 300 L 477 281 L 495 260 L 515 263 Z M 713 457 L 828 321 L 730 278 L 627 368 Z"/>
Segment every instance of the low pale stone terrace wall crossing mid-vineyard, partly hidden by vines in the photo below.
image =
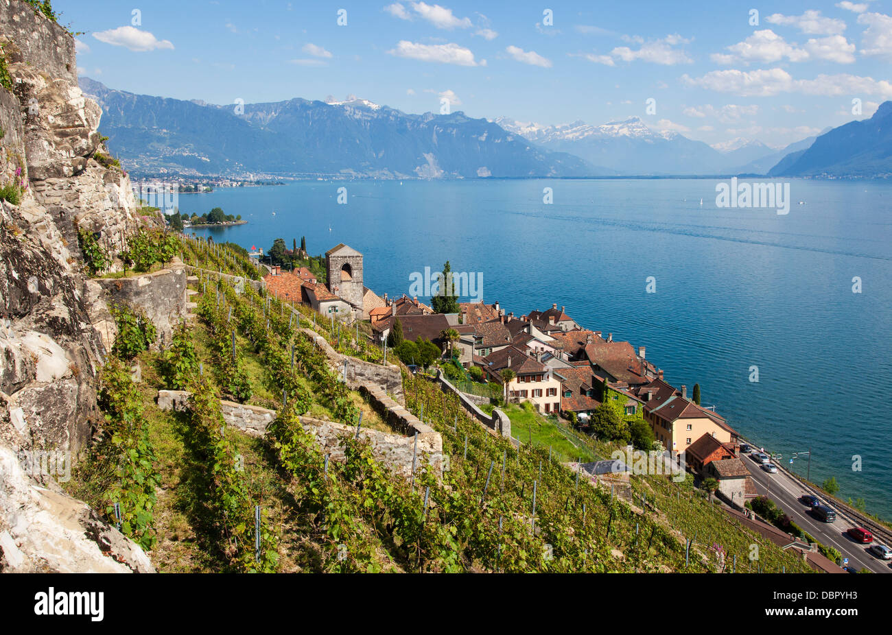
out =
<path fill-rule="evenodd" d="M 412 474 L 412 457 L 415 453 L 416 469 L 427 465 L 435 474 L 442 474 L 442 437 L 440 434 L 430 426 L 422 424 L 380 389 L 374 386 L 364 388 L 363 392 L 372 407 L 382 413 L 385 420 L 396 423 L 395 429 L 401 432 L 401 434 L 395 434 L 360 429 L 359 436 L 370 442 L 375 458 L 388 466 L 394 474 L 409 478 Z M 188 400 L 189 393 L 186 391 L 158 392 L 158 407 L 162 410 L 185 410 L 188 408 Z M 220 410 L 227 425 L 232 425 L 252 436 L 265 434 L 267 426 L 276 418 L 275 410 L 233 401 L 220 400 Z M 344 460 L 340 440 L 344 436 L 353 436 L 356 433 L 356 427 L 334 421 L 323 421 L 311 416 L 301 416 L 300 419 L 301 425 L 312 433 L 323 452 L 330 454 L 335 461 Z"/>

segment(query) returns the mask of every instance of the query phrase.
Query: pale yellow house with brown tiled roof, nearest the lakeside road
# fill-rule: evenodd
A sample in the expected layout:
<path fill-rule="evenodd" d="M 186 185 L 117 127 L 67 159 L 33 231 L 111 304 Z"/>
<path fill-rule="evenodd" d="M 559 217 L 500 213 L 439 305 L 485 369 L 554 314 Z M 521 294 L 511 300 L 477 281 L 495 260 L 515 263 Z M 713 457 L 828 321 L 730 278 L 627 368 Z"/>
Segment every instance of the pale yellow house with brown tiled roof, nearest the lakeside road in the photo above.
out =
<path fill-rule="evenodd" d="M 644 403 L 644 420 L 651 425 L 657 441 L 666 449 L 684 452 L 704 434 L 723 443 L 736 443 L 739 434 L 722 416 L 688 400 L 687 387 L 681 391 L 666 383 L 662 372 L 649 383 L 630 389 Z"/>

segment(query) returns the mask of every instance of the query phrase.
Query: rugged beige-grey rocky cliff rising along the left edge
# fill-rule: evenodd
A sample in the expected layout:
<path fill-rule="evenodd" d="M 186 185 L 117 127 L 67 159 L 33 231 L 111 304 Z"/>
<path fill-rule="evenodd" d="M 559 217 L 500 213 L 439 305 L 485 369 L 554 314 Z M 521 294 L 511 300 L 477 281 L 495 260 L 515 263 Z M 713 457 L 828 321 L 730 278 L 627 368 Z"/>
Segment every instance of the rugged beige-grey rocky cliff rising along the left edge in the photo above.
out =
<path fill-rule="evenodd" d="M 78 88 L 74 38 L 0 0 L 0 45 L 0 570 L 151 570 L 52 476 L 21 468 L 39 452 L 76 457 L 101 416 L 95 377 L 116 329 L 82 273 L 78 228 L 114 257 L 146 219 Z"/>

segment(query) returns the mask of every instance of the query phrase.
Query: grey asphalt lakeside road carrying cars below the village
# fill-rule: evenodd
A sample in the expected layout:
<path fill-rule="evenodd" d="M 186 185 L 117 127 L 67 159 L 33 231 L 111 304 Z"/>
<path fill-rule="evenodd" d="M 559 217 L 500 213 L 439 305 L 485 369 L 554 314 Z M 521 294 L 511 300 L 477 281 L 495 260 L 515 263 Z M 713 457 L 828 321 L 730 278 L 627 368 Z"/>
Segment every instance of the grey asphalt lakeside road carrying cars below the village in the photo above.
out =
<path fill-rule="evenodd" d="M 767 494 L 768 498 L 781 507 L 794 523 L 814 536 L 815 540 L 828 547 L 837 548 L 843 557 L 848 558 L 849 566 L 854 566 L 858 571 L 864 568 L 874 573 L 892 573 L 888 560 L 880 560 L 867 551 L 870 545 L 863 545 L 848 537 L 846 532 L 854 525 L 847 519 L 838 516 L 834 523 L 818 520 L 799 500 L 801 496 L 811 494 L 811 491 L 806 491 L 800 482 L 783 470 L 779 469 L 777 474 L 768 474 L 750 456 L 741 454 L 740 460 L 752 474 L 756 491 L 760 496 Z"/>

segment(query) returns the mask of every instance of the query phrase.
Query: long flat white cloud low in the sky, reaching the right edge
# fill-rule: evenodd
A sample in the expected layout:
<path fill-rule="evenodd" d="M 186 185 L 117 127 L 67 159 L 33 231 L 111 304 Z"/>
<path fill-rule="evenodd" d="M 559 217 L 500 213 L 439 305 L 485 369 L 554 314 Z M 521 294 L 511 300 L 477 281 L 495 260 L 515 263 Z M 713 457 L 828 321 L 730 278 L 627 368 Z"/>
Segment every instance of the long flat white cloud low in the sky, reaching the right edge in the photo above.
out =
<path fill-rule="evenodd" d="M 741 96 L 770 97 L 780 93 L 803 95 L 882 95 L 892 97 L 892 83 L 857 75 L 818 75 L 814 79 L 794 79 L 786 70 L 711 70 L 701 78 L 683 75 L 688 86 Z"/>

